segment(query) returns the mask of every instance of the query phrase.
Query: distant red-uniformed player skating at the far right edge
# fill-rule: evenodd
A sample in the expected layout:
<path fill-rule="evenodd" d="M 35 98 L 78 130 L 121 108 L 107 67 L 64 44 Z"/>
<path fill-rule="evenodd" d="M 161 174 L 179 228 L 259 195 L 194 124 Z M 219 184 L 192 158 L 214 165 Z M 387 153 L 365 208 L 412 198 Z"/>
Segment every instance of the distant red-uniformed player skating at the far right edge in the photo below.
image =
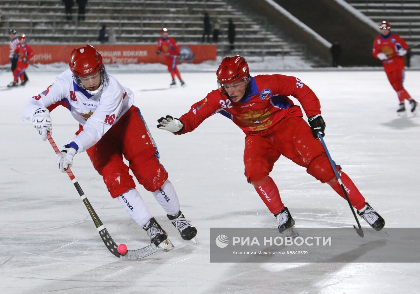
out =
<path fill-rule="evenodd" d="M 417 102 L 411 98 L 407 90 L 404 89 L 404 55 L 407 54 L 408 45 L 398 35 L 391 33 L 391 26 L 388 22 L 383 21 L 379 25 L 381 35 L 375 38 L 373 42 L 372 54 L 375 58 L 381 59 L 383 69 L 386 72 L 389 83 L 396 91 L 399 100 L 397 113 L 399 116 L 406 116 L 404 100 L 410 103 L 412 113 L 417 113 Z"/>

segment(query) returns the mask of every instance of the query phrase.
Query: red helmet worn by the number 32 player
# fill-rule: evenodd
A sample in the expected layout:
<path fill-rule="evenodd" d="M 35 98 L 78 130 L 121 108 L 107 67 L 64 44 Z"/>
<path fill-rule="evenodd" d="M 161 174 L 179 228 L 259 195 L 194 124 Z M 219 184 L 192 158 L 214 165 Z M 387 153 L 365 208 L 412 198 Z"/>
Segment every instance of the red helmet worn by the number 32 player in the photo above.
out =
<path fill-rule="evenodd" d="M 234 83 L 244 79 L 249 82 L 248 63 L 244 57 L 236 55 L 234 57 L 225 57 L 220 62 L 216 72 L 217 82 L 220 85 Z"/>

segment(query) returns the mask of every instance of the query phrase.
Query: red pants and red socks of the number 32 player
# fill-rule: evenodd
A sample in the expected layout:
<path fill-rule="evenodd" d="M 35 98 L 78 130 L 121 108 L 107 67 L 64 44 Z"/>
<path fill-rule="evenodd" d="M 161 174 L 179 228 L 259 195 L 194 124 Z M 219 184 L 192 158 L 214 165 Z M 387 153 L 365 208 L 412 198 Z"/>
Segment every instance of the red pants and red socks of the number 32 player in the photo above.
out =
<path fill-rule="evenodd" d="M 256 187 L 257 193 L 261 192 L 262 200 L 273 213 L 278 212 L 283 205 L 278 192 L 272 186 L 275 184 L 272 183 L 271 188 L 265 184 L 270 183 L 268 175 L 280 155 L 306 168 L 307 173 L 321 183 L 328 182 L 341 197 L 345 198 L 322 144 L 312 136 L 310 127 L 302 118 L 289 115 L 270 130 L 245 137 L 245 176 L 248 182 Z M 362 209 L 365 205 L 364 197 L 345 173 L 341 172 L 340 176 L 351 203 L 357 209 Z M 264 191 L 258 189 L 259 185 Z M 263 193 L 267 193 L 266 189 L 270 189 L 272 191 L 270 195 L 276 195 L 278 199 L 271 199 L 269 196 L 270 201 L 268 201 Z"/>

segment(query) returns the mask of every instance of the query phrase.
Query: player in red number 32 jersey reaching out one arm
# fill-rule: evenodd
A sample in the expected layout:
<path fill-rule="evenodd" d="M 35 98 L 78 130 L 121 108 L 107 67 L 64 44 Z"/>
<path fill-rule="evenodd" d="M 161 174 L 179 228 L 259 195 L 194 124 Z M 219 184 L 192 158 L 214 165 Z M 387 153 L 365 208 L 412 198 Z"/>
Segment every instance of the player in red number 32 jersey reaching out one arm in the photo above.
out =
<path fill-rule="evenodd" d="M 217 70 L 218 90 L 213 90 L 179 119 L 166 116 L 158 120 L 159 129 L 185 134 L 196 129 L 205 119 L 219 112 L 230 118 L 246 134 L 244 164 L 247 181 L 277 218 L 278 230 L 294 227 L 294 219 L 280 198 L 269 176 L 274 163 L 283 155 L 306 168 L 307 173 L 328 183 L 341 197 L 338 183 L 325 150 L 318 140 L 324 135 L 325 122 L 320 102 L 297 77 L 286 75 L 249 75 L 247 61 L 241 56 L 226 57 Z M 302 110 L 287 97 L 301 103 L 309 124 L 302 119 Z M 352 205 L 375 230 L 385 226 L 384 219 L 373 210 L 352 180 L 337 165 L 341 181 Z"/>

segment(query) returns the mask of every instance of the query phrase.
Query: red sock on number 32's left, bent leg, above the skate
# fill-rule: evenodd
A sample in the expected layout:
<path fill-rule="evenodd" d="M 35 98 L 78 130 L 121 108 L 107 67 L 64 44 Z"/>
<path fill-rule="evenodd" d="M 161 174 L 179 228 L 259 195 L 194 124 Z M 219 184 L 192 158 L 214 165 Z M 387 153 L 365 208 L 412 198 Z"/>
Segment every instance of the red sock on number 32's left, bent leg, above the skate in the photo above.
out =
<path fill-rule="evenodd" d="M 252 182 L 252 185 L 254 185 L 255 191 L 260 195 L 272 214 L 277 214 L 284 208 L 284 204 L 280 199 L 280 193 L 272 178 L 267 177 L 263 181 Z"/>

